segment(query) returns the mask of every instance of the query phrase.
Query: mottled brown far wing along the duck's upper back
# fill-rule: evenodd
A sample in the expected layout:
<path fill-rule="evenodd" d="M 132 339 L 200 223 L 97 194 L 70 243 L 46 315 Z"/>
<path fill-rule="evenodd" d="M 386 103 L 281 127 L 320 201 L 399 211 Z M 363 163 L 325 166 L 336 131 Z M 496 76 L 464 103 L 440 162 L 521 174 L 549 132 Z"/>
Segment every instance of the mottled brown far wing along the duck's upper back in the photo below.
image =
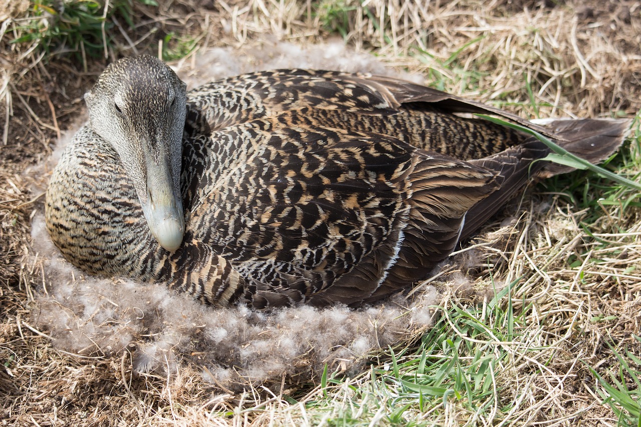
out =
<path fill-rule="evenodd" d="M 282 69 L 216 81 L 189 92 L 188 123 L 217 130 L 288 110 L 321 108 L 362 115 L 395 115 L 408 103 L 423 103 L 447 113 L 483 113 L 517 122 L 552 137 L 538 126 L 493 106 L 410 81 L 365 73 Z"/>

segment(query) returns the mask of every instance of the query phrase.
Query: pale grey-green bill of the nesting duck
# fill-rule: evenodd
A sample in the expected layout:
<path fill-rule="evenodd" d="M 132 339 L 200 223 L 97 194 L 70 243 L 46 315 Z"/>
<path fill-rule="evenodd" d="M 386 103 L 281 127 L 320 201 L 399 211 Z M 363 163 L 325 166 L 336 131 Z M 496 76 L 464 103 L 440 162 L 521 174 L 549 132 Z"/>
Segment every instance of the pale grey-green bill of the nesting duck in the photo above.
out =
<path fill-rule="evenodd" d="M 142 210 L 160 246 L 170 252 L 178 249 L 185 235 L 185 215 L 168 167 L 147 168 L 147 203 Z"/>

